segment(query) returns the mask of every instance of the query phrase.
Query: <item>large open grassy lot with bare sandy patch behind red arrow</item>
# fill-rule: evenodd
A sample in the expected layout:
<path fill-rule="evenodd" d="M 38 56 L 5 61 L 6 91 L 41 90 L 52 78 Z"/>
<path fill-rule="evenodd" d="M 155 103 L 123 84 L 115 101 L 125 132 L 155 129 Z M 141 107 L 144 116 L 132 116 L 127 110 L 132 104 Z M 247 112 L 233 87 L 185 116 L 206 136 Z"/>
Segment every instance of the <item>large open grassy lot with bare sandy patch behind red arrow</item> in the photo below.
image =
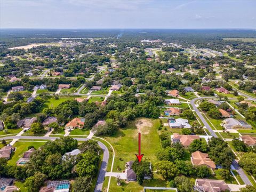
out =
<path fill-rule="evenodd" d="M 139 125 L 139 123 L 142 124 Z M 139 118 L 127 125 L 125 129 L 120 129 L 113 137 L 105 138 L 115 149 L 114 172 L 121 172 L 125 169 L 126 162 L 135 160 L 135 154 L 138 153 L 139 131 L 141 132 L 141 152 L 144 154 L 143 159 L 148 159 L 154 165 L 156 162 L 156 151 L 161 149 L 161 143 L 157 133 L 158 126 L 158 119 Z M 117 170 L 117 167 L 120 170 Z"/>

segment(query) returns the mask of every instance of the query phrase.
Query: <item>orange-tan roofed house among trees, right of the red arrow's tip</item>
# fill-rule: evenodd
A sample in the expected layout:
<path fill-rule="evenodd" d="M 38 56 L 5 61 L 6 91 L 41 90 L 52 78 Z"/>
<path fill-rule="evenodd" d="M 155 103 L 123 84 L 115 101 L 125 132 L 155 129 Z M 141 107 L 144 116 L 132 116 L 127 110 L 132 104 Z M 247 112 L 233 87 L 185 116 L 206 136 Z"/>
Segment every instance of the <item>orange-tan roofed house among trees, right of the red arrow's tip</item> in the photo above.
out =
<path fill-rule="evenodd" d="M 208 154 L 195 151 L 191 154 L 191 163 L 196 166 L 206 165 L 211 169 L 216 169 L 215 163 L 209 158 Z"/>

